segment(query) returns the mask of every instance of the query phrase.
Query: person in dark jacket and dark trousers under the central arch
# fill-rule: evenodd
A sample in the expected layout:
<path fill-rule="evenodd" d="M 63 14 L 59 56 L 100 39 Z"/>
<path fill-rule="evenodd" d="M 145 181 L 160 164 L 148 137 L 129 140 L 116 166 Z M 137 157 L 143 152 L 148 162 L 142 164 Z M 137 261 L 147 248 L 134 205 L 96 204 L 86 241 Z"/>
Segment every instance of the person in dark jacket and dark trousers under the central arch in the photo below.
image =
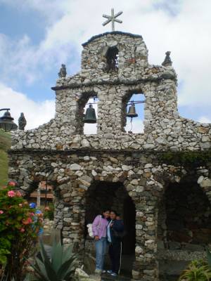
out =
<path fill-rule="evenodd" d="M 120 273 L 121 256 L 122 256 L 122 241 L 121 233 L 124 232 L 123 221 L 117 220 L 116 211 L 110 211 L 110 222 L 107 226 L 107 237 L 109 244 L 109 256 L 111 261 L 111 270 L 107 272 L 112 276 L 116 276 Z"/>

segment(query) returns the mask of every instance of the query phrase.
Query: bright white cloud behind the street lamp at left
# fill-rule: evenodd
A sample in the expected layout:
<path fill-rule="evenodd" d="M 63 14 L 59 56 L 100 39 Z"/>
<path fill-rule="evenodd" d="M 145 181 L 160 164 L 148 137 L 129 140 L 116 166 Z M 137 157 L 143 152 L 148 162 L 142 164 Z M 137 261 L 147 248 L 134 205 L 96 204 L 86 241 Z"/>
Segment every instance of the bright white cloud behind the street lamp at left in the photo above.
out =
<path fill-rule="evenodd" d="M 25 94 L 14 91 L 8 86 L 0 83 L 1 108 L 10 107 L 11 117 L 18 124 L 20 112 L 24 112 L 27 119 L 25 129 L 34 129 L 37 126 L 49 122 L 55 115 L 55 101 L 45 100 L 44 102 L 34 102 L 27 98 Z M 2 115 L 4 112 L 1 112 Z"/>

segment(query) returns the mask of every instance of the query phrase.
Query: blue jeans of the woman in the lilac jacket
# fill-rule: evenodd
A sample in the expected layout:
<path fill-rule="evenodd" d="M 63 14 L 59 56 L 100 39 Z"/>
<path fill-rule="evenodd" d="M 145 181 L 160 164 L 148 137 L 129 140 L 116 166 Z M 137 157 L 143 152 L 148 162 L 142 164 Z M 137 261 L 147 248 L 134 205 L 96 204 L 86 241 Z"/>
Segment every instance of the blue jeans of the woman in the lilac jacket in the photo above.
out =
<path fill-rule="evenodd" d="M 107 248 L 107 239 L 102 237 L 100 240 L 95 241 L 96 249 L 96 269 L 103 270 L 104 258 Z"/>

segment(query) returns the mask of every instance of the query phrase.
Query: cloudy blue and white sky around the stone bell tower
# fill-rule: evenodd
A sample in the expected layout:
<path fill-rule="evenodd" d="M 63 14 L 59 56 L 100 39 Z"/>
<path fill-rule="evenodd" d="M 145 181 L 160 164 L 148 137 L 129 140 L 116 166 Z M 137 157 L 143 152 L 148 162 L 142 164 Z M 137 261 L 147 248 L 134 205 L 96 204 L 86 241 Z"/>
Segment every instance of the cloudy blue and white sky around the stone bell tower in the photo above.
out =
<path fill-rule="evenodd" d="M 81 44 L 110 31 L 101 15 L 112 7 L 124 12 L 116 30 L 143 36 L 149 63 L 172 52 L 180 115 L 211 122 L 210 0 L 0 0 L 0 107 L 16 122 L 24 112 L 28 129 L 48 122 L 60 64 L 79 71 Z"/>

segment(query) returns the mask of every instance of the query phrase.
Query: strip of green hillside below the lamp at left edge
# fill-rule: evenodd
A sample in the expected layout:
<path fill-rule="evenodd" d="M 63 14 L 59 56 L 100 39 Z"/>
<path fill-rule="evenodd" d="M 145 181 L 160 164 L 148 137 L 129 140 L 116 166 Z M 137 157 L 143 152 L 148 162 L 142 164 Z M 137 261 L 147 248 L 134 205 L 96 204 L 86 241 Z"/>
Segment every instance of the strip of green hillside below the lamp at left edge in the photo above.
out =
<path fill-rule="evenodd" d="M 11 147 L 11 134 L 0 131 L 0 187 L 8 181 L 8 157 L 6 151 Z"/>

